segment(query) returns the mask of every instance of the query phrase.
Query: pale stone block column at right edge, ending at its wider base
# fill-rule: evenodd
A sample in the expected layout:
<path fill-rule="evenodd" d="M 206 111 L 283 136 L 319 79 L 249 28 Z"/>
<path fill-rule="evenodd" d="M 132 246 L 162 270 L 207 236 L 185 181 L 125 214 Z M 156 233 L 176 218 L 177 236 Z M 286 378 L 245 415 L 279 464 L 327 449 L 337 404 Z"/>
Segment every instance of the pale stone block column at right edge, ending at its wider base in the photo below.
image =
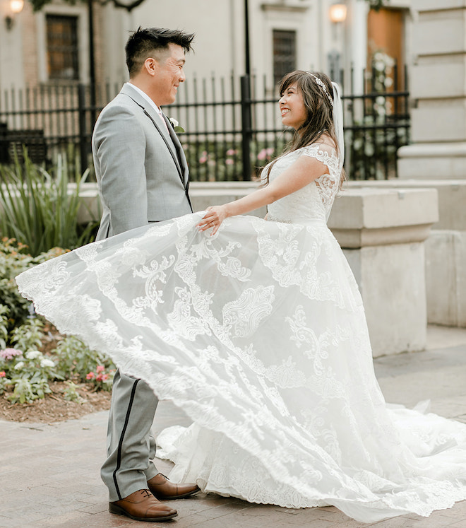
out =
<path fill-rule="evenodd" d="M 412 145 L 400 178 L 466 178 L 466 0 L 412 0 Z"/>

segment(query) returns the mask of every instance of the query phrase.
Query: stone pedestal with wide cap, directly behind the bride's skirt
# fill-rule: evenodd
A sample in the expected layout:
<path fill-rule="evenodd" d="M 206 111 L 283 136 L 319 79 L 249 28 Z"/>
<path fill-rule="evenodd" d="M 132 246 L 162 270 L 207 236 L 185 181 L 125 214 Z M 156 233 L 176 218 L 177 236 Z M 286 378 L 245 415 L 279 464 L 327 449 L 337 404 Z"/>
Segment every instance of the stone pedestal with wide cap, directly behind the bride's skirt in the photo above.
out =
<path fill-rule="evenodd" d="M 426 346 L 424 240 L 436 221 L 436 189 L 337 196 L 328 226 L 359 285 L 374 357 Z"/>

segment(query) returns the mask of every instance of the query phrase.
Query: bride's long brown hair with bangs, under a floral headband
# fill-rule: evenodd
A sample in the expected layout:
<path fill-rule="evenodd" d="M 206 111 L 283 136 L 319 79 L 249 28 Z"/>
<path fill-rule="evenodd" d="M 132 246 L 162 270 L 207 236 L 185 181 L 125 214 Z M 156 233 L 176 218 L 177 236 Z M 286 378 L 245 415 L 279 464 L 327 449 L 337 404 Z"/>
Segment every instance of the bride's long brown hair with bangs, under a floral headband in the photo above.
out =
<path fill-rule="evenodd" d="M 316 77 L 324 83 L 327 93 L 316 83 Z M 326 134 L 333 139 L 338 151 L 337 136 L 335 134 L 335 127 L 333 126 L 333 105 L 328 98 L 330 96 L 333 100 L 332 81 L 330 81 L 328 76 L 318 71 L 292 71 L 280 81 L 280 97 L 294 83 L 296 83 L 299 93 L 302 95 L 304 106 L 306 107 L 307 119 L 299 129 L 294 131 L 292 140 L 288 143 L 282 156 L 296 151 L 298 148 L 315 143 L 322 134 Z M 264 172 L 266 171 L 266 174 L 261 176 L 263 185 L 268 184 L 270 170 L 278 159 L 275 158 L 265 168 Z"/>

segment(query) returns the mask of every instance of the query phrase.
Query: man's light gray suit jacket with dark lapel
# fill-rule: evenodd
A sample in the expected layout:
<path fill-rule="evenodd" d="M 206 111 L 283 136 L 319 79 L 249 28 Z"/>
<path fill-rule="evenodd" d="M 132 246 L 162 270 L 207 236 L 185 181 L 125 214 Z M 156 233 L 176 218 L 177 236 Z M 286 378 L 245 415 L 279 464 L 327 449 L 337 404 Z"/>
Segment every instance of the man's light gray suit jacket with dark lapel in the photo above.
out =
<path fill-rule="evenodd" d="M 97 240 L 191 213 L 189 170 L 172 125 L 125 84 L 104 107 L 92 134 L 102 201 Z"/>

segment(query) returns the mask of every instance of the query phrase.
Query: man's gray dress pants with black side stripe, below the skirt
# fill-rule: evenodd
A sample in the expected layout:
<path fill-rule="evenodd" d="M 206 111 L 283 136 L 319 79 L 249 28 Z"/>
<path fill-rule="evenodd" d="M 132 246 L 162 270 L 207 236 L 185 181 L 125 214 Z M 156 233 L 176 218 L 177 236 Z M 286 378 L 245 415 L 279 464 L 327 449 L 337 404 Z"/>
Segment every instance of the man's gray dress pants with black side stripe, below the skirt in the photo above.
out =
<path fill-rule="evenodd" d="M 152 389 L 134 377 L 115 372 L 107 430 L 107 460 L 100 475 L 114 502 L 147 488 L 157 475 L 152 462 L 155 439 L 150 433 L 158 399 Z"/>

